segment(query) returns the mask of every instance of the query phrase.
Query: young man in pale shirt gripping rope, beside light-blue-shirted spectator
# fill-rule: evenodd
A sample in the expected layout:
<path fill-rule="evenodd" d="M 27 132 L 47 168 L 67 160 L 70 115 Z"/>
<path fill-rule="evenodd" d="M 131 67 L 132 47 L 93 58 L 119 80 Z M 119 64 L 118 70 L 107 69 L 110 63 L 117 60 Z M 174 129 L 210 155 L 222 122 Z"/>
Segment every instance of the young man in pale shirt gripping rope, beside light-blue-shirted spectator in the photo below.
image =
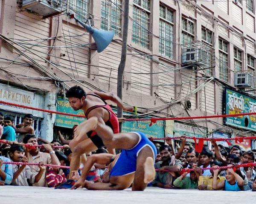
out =
<path fill-rule="evenodd" d="M 25 156 L 25 151 L 22 146 L 19 144 L 14 144 L 9 149 L 9 156 L 14 162 L 28 162 Z M 43 166 L 42 162 L 39 162 L 39 172 L 38 174 L 32 173 L 28 165 L 16 165 L 12 164 L 13 169 L 13 179 L 12 179 L 12 185 L 13 186 L 29 186 L 31 184 L 37 183 L 40 178 L 42 177 L 45 166 Z M 28 183 L 29 181 L 29 183 Z"/>

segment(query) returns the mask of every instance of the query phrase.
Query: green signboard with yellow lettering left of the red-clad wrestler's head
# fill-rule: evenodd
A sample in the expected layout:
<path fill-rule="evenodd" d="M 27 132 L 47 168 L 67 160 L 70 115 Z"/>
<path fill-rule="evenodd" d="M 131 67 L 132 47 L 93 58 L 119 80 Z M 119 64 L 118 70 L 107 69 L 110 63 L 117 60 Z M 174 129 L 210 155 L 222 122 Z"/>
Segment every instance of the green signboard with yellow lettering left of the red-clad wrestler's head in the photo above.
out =
<path fill-rule="evenodd" d="M 69 102 L 61 98 L 58 98 L 56 111 L 84 116 L 84 111 L 82 110 L 74 111 L 73 108 L 71 108 Z M 56 114 L 55 125 L 59 127 L 72 128 L 74 125 L 78 125 L 84 120 L 85 118 L 81 118 L 81 117 Z"/>

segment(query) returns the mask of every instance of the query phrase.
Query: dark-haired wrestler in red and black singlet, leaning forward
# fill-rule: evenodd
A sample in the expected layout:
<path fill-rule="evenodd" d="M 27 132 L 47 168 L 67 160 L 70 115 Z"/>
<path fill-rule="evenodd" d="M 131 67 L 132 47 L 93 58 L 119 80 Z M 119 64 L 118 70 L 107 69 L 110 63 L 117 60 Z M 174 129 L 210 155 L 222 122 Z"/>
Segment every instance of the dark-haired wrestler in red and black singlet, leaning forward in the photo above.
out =
<path fill-rule="evenodd" d="M 83 110 L 87 119 L 91 117 L 96 117 L 99 124 L 102 124 L 102 128 L 110 127 L 114 133 L 119 133 L 119 122 L 116 114 L 111 109 L 110 105 L 105 102 L 105 100 L 111 100 L 117 104 L 118 107 L 122 108 L 125 111 L 133 111 L 133 107 L 128 107 L 122 104 L 119 97 L 114 96 L 113 94 L 106 94 L 104 92 L 93 91 L 88 94 L 80 86 L 71 87 L 67 93 L 66 97 L 70 103 L 70 106 L 75 110 Z M 77 128 L 76 131 L 81 133 L 81 137 L 76 135 L 70 141 L 70 148 L 72 150 L 72 159 L 70 162 L 70 172 L 73 170 L 78 170 L 81 163 L 81 155 L 87 152 L 95 151 L 100 147 L 105 146 L 102 139 L 97 135 L 95 131 L 83 131 L 82 122 Z M 108 145 L 107 145 L 108 147 Z M 110 148 L 110 147 L 108 147 Z M 115 154 L 114 150 L 109 149 L 109 151 Z M 75 181 L 71 178 L 56 187 L 58 189 L 67 189 L 71 188 Z"/>

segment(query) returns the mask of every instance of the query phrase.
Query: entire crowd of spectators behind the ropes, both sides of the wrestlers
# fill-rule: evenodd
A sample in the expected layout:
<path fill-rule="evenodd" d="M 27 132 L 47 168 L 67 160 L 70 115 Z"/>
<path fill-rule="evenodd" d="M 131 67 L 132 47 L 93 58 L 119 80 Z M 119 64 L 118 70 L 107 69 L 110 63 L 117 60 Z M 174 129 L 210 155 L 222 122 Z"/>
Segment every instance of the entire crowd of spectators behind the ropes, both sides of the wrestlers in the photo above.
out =
<path fill-rule="evenodd" d="M 12 116 L 0 113 L 0 139 L 10 141 L 10 144 L 0 144 L 0 185 L 57 187 L 67 181 L 70 174 L 77 180 L 81 175 L 80 170 L 70 172 L 65 168 L 70 165 L 72 157 L 72 151 L 68 146 L 70 140 L 65 140 L 60 131 L 59 140 L 48 142 L 37 138 L 32 127 L 33 120 L 33 116 L 27 114 L 23 123 L 15 125 Z M 73 129 L 75 128 L 76 126 Z M 19 134 L 17 139 L 15 133 Z M 242 151 L 239 145 L 233 145 L 230 151 L 227 151 L 222 145 L 211 141 L 211 149 L 204 147 L 202 152 L 198 153 L 186 139 L 180 140 L 182 143 L 176 152 L 171 139 L 166 141 L 167 144 L 155 144 L 157 156 L 154 165 L 157 171 L 154 181 L 149 186 L 168 189 L 256 191 L 255 166 L 237 167 L 239 164 L 256 163 L 256 150 Z M 38 141 L 44 143 L 42 147 L 32 148 Z M 31 147 L 25 147 L 24 144 Z M 62 145 L 65 148 L 53 148 Z M 102 148 L 93 153 L 108 151 Z M 81 168 L 86 162 L 86 157 L 91 154 L 86 153 L 82 157 Z M 39 165 L 3 164 L 6 161 Z M 46 167 L 44 164 L 62 167 Z M 230 168 L 227 169 L 216 168 L 229 165 Z M 231 168 L 233 166 L 236 169 Z M 213 167 L 213 170 L 202 170 L 202 167 Z M 184 171 L 187 169 L 190 169 L 189 172 Z M 104 170 L 105 166 L 95 164 L 86 180 L 101 182 Z"/>

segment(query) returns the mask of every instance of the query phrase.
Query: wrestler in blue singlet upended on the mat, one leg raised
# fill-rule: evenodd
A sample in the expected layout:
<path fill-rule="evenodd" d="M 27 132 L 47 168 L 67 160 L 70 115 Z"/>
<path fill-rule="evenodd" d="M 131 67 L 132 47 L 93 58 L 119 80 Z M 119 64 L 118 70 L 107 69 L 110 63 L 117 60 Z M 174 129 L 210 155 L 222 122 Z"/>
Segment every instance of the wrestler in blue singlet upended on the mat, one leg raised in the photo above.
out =
<path fill-rule="evenodd" d="M 89 190 L 123 190 L 132 183 L 132 190 L 144 190 L 154 180 L 157 150 L 144 133 L 113 134 L 113 130 L 99 122 L 96 117 L 91 117 L 79 126 L 75 130 L 75 137 L 78 139 L 84 137 L 84 132 L 95 130 L 107 147 L 121 149 L 122 153 L 93 154 L 88 157 L 82 175 L 72 189 L 84 186 Z M 102 183 L 84 180 L 94 163 L 109 164 Z"/>

